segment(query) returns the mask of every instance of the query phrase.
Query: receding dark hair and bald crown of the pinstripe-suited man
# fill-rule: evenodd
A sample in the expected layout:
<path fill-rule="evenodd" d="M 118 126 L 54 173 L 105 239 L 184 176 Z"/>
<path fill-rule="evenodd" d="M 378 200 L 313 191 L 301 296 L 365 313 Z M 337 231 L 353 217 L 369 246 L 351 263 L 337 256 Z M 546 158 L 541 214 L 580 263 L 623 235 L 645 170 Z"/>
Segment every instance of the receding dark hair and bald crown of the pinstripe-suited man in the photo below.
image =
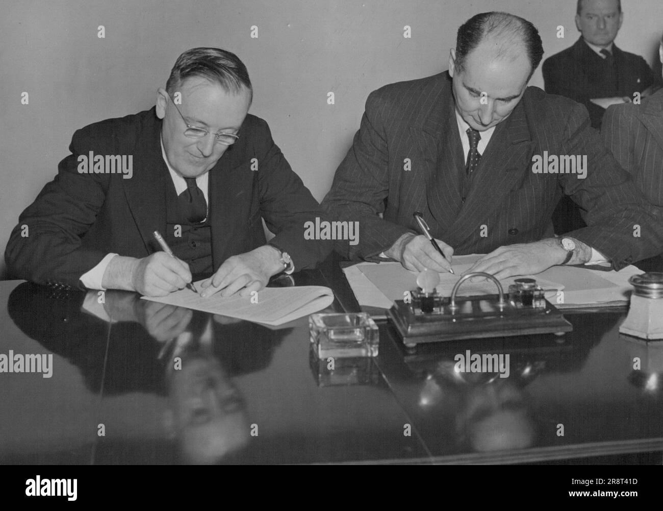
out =
<path fill-rule="evenodd" d="M 509 13 L 481 13 L 471 17 L 458 29 L 455 48 L 455 70 L 465 70 L 465 58 L 482 40 L 493 37 L 499 41 L 498 55 L 512 51 L 519 43 L 524 44 L 532 64 L 532 73 L 543 58 L 543 43 L 538 30 L 526 19 Z"/>

